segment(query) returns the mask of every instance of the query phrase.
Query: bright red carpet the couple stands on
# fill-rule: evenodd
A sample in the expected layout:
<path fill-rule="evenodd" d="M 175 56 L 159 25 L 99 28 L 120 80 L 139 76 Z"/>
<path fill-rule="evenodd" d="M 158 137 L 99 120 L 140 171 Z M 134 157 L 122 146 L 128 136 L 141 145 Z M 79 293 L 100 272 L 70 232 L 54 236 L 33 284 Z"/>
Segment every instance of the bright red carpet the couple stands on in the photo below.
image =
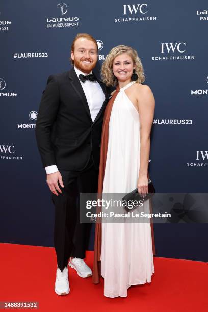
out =
<path fill-rule="evenodd" d="M 72 269 L 69 269 L 69 295 L 56 295 L 53 248 L 0 244 L 0 252 L 0 301 L 38 301 L 38 310 L 46 312 L 208 310 L 207 263 L 154 258 L 155 273 L 151 284 L 129 288 L 127 298 L 111 299 L 103 296 L 103 280 L 94 285 L 91 278 L 80 278 Z M 88 252 L 90 267 L 92 258 L 93 252 Z"/>

